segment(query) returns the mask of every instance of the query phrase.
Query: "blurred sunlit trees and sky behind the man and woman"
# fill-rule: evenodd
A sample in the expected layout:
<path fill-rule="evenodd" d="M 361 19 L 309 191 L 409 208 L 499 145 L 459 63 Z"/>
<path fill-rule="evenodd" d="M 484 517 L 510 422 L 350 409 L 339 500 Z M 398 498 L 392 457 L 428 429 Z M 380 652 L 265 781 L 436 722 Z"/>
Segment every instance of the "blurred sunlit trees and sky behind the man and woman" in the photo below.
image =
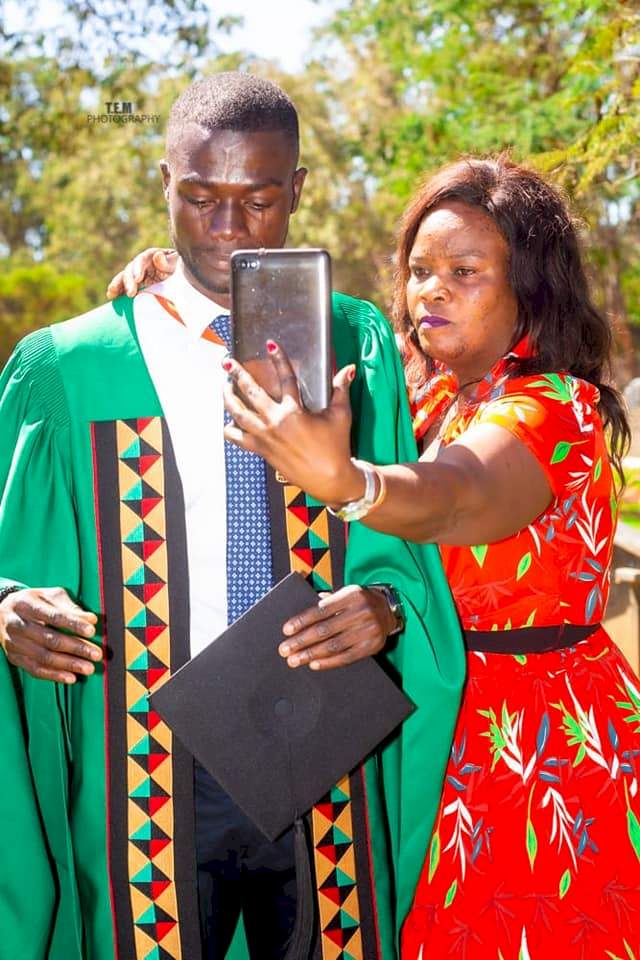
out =
<path fill-rule="evenodd" d="M 0 0 L 0 22 L 0 362 L 168 242 L 164 124 L 202 74 L 252 70 L 290 93 L 311 171 L 290 242 L 327 247 L 335 286 L 383 310 L 425 174 L 503 149 L 549 174 L 583 224 L 635 426 L 611 609 L 637 646 L 638 0 Z M 152 120 L 90 120 L 113 102 Z"/>

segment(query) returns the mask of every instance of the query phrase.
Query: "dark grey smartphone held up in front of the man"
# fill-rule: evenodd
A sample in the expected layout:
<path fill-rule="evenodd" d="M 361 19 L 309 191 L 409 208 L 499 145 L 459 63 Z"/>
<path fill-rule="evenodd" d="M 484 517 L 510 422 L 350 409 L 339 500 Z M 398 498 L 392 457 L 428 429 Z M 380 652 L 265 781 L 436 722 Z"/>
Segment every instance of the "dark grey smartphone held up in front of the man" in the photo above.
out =
<path fill-rule="evenodd" d="M 331 398 L 331 258 L 326 250 L 236 250 L 231 254 L 232 353 L 279 400 L 266 348 L 291 360 L 301 400 L 316 413 Z"/>

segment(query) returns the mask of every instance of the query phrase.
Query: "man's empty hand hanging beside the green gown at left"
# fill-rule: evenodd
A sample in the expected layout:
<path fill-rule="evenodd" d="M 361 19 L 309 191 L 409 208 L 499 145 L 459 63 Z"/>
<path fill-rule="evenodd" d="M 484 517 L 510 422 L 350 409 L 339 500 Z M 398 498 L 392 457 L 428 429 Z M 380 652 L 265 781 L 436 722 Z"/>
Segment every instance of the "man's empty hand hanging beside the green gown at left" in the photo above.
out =
<path fill-rule="evenodd" d="M 97 621 L 62 587 L 16 590 L 0 603 L 0 644 L 9 663 L 33 677 L 75 683 L 102 659 L 100 647 L 87 642 Z"/>

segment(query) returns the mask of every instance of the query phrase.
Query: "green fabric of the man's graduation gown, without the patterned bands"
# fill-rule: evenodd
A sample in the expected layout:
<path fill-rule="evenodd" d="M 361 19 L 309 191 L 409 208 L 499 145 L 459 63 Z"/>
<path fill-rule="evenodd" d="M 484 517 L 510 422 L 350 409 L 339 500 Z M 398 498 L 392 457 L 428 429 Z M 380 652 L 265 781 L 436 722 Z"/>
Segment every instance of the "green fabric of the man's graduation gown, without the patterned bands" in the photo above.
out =
<path fill-rule="evenodd" d="M 340 366 L 357 363 L 358 455 L 415 459 L 402 369 L 384 318 L 336 295 L 334 344 Z M 100 610 L 89 424 L 160 415 L 127 298 L 18 346 L 0 380 L 0 584 L 63 586 Z M 436 809 L 462 645 L 435 548 L 354 524 L 347 579 L 388 580 L 403 593 L 407 630 L 388 656 L 420 708 L 367 774 L 383 956 L 392 960 Z M 0 815 L 12 827 L 0 845 L 0 960 L 113 960 L 104 710 L 101 669 L 65 689 L 0 657 Z M 242 946 L 229 954 L 244 957 Z"/>

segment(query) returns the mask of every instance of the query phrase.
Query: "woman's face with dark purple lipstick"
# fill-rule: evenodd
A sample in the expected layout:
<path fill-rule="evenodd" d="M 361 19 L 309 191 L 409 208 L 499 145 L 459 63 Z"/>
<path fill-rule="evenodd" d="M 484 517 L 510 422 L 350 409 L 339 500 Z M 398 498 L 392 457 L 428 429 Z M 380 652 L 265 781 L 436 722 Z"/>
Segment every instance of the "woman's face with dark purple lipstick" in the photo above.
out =
<path fill-rule="evenodd" d="M 424 218 L 409 256 L 407 305 L 420 346 L 460 383 L 484 376 L 512 346 L 518 304 L 509 247 L 491 217 L 459 201 Z"/>

